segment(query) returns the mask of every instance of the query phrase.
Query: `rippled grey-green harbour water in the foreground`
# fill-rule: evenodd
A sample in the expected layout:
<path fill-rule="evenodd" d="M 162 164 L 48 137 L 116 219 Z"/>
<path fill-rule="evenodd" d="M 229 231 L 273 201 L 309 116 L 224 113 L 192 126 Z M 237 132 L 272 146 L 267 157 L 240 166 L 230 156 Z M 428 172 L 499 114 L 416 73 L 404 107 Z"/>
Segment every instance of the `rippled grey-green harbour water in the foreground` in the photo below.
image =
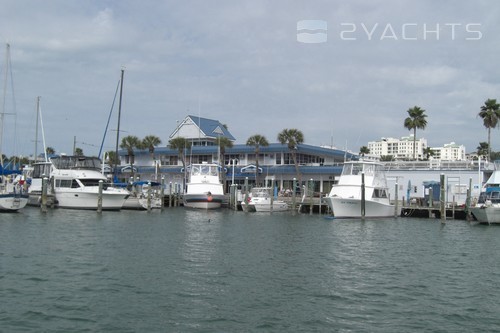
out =
<path fill-rule="evenodd" d="M 0 215 L 0 332 L 498 332 L 500 227 L 184 208 Z"/>

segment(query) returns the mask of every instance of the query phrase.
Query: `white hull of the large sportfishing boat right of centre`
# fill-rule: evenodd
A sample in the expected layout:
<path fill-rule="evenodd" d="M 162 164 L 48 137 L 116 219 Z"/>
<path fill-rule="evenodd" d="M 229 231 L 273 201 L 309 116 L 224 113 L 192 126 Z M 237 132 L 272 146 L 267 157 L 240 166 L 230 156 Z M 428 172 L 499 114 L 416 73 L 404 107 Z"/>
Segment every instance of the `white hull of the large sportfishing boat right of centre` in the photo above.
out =
<path fill-rule="evenodd" d="M 328 206 L 336 218 L 360 218 L 361 200 L 340 197 L 325 198 Z M 394 216 L 394 205 L 380 201 L 365 201 L 364 217 L 391 217 Z"/>

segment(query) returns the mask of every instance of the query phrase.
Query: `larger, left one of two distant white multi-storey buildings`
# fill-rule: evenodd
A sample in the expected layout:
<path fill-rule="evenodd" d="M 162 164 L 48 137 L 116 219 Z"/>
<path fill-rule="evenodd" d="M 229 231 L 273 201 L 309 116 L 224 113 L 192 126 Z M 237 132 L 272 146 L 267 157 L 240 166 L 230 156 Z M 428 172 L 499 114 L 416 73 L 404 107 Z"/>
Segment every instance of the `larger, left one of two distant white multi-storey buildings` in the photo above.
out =
<path fill-rule="evenodd" d="M 422 138 L 415 141 L 415 158 L 423 159 L 427 140 Z M 395 138 L 382 138 L 380 141 L 368 142 L 370 155 L 392 156 L 395 160 L 413 159 L 413 135 Z"/>

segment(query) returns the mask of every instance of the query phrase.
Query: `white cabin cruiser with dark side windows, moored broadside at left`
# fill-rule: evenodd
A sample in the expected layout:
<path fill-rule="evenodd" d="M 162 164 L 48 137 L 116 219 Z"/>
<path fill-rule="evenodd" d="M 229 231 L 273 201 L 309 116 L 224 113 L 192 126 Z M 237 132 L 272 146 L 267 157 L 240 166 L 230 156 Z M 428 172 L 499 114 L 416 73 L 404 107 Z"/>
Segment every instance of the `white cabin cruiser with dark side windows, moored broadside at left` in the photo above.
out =
<path fill-rule="evenodd" d="M 51 181 L 60 208 L 97 209 L 99 181 L 103 181 L 102 209 L 120 210 L 129 196 L 123 188 L 114 188 L 100 172 L 96 157 L 57 156 L 52 162 Z"/>

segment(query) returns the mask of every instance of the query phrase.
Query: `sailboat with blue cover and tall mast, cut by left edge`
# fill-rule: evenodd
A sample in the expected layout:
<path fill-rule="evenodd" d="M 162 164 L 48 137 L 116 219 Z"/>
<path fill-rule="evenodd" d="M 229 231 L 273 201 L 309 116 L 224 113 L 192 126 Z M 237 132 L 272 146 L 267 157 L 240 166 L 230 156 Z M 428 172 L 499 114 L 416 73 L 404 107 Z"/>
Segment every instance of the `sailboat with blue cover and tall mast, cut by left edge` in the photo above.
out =
<path fill-rule="evenodd" d="M 28 192 L 24 188 L 24 180 L 20 176 L 16 177 L 16 175 L 20 175 L 21 172 L 18 170 L 6 170 L 2 154 L 4 118 L 7 114 L 5 112 L 7 79 L 11 71 L 10 45 L 7 44 L 5 53 L 3 103 L 0 112 L 0 211 L 17 211 L 24 208 L 28 203 Z"/>

